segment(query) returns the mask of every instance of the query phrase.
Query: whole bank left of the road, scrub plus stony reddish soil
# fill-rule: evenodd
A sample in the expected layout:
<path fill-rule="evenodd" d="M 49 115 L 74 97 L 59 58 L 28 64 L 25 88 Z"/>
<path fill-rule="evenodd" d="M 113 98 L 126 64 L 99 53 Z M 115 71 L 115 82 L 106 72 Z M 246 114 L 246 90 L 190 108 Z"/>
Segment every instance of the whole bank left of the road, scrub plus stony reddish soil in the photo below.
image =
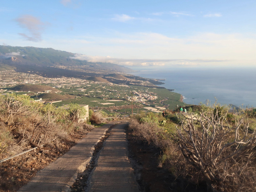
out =
<path fill-rule="evenodd" d="M 89 110 L 91 119 L 80 122 L 84 120 L 85 112 L 85 108 L 76 103 L 69 103 L 67 108 L 56 108 L 28 95 L 0 95 L 0 159 L 37 147 L 28 156 L 1 163 L 0 176 L 4 179 L 0 180 L 0 190 L 17 191 L 44 165 L 67 152 L 95 126 L 108 121 L 103 118 L 104 113 L 98 111 L 95 115 Z"/>

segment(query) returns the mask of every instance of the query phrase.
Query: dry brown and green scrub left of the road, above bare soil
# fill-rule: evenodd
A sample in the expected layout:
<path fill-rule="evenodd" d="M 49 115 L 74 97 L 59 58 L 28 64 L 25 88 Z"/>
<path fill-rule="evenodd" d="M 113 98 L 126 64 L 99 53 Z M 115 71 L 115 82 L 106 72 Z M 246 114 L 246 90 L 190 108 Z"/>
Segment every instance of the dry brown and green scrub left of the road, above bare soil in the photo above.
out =
<path fill-rule="evenodd" d="M 59 143 L 67 140 L 69 134 L 93 128 L 87 122 L 78 123 L 85 114 L 85 108 L 77 103 L 69 103 L 67 108 L 56 108 L 49 103 L 36 102 L 27 95 L 0 95 L 1 159 L 29 146 L 52 145 L 53 140 L 59 147 Z M 104 123 L 105 115 L 101 111 L 94 113 L 89 110 L 88 123 Z"/>

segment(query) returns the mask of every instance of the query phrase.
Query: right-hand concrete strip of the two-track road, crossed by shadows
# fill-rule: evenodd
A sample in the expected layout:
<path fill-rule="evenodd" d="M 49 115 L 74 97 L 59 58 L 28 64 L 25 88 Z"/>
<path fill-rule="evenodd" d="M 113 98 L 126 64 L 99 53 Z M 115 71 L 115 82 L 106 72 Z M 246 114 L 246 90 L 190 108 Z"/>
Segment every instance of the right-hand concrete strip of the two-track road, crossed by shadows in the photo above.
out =
<path fill-rule="evenodd" d="M 88 181 L 86 192 L 139 192 L 138 183 L 128 159 L 128 143 L 124 128 L 114 126 L 100 150 Z"/>

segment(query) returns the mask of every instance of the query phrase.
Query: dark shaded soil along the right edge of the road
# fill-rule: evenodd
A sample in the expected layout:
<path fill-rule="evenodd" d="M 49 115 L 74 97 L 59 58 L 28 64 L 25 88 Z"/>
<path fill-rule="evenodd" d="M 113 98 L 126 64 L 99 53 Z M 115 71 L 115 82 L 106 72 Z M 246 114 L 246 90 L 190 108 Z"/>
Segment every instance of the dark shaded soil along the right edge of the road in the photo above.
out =
<path fill-rule="evenodd" d="M 127 130 L 128 148 L 131 162 L 138 178 L 142 192 L 204 192 L 205 185 L 196 185 L 186 178 L 175 177 L 158 166 L 161 149 L 150 145 L 143 138 L 134 136 L 132 130 Z"/>

